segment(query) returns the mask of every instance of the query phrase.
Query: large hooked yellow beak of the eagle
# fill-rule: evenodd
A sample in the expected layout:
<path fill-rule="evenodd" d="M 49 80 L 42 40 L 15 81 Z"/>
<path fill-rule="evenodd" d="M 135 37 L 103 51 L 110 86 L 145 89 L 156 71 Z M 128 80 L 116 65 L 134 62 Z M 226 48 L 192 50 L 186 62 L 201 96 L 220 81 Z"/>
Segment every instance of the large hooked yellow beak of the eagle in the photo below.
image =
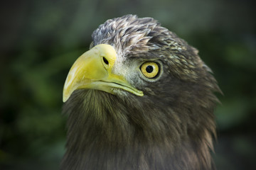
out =
<path fill-rule="evenodd" d="M 82 54 L 65 80 L 63 102 L 68 101 L 76 89 L 97 89 L 110 94 L 114 94 L 113 89 L 122 89 L 143 96 L 143 92 L 132 87 L 124 77 L 112 73 L 116 58 L 114 47 L 105 44 L 96 45 Z"/>

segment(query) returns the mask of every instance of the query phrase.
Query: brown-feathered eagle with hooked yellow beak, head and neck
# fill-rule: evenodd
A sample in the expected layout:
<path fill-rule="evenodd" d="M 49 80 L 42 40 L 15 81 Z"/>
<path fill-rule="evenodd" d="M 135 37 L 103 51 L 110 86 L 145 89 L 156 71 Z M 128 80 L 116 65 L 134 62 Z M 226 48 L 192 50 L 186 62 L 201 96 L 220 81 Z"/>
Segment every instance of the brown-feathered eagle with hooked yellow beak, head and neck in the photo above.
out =
<path fill-rule="evenodd" d="M 215 92 L 198 50 L 154 18 L 109 19 L 65 80 L 60 169 L 215 169 Z"/>

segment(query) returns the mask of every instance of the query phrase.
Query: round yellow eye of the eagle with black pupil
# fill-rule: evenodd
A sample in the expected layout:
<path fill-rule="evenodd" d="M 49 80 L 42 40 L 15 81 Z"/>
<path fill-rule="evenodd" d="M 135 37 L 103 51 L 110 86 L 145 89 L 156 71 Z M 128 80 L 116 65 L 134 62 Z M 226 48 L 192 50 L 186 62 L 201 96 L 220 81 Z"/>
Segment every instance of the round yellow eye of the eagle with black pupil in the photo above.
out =
<path fill-rule="evenodd" d="M 142 74 L 149 79 L 156 77 L 159 73 L 159 65 L 156 62 L 144 62 L 140 69 Z"/>

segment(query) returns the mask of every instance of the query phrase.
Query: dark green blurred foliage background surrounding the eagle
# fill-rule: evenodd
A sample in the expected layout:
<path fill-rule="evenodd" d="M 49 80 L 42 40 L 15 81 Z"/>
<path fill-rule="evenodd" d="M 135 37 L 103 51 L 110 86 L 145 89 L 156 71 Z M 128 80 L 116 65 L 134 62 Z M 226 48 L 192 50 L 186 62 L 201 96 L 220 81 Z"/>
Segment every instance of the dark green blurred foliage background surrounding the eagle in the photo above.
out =
<path fill-rule="evenodd" d="M 219 170 L 256 169 L 256 19 L 244 0 L 1 1 L 0 169 L 58 169 L 68 70 L 109 18 L 151 16 L 198 48 L 224 96 Z"/>

